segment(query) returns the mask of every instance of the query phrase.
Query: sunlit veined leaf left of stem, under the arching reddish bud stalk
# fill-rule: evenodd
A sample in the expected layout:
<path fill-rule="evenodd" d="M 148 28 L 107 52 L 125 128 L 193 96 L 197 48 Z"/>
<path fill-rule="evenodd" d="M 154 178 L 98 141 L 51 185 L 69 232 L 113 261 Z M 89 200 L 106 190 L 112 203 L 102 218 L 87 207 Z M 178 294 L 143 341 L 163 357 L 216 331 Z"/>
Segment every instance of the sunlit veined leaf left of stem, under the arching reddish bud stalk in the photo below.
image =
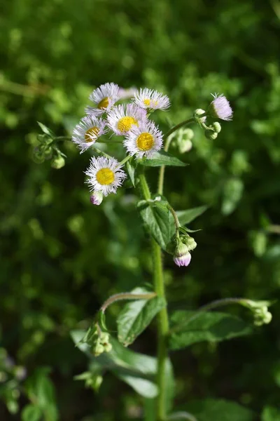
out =
<path fill-rule="evenodd" d="M 135 288 L 132 293 L 148 293 L 144 288 Z M 127 303 L 120 312 L 118 324 L 118 340 L 125 345 L 132 344 L 144 329 L 151 323 L 166 303 L 164 298 L 155 297 L 151 300 L 137 300 Z"/>

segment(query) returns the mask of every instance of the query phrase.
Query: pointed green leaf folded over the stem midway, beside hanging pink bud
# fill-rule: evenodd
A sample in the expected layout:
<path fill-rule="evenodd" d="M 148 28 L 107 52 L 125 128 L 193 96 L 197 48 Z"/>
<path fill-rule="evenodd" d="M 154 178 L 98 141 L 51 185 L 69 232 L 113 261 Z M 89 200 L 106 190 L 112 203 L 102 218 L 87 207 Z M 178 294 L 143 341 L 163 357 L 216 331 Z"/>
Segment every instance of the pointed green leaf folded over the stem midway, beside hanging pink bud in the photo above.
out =
<path fill-rule="evenodd" d="M 148 232 L 166 250 L 174 227 L 174 220 L 167 208 L 166 201 L 141 201 L 138 206 L 140 215 Z"/>

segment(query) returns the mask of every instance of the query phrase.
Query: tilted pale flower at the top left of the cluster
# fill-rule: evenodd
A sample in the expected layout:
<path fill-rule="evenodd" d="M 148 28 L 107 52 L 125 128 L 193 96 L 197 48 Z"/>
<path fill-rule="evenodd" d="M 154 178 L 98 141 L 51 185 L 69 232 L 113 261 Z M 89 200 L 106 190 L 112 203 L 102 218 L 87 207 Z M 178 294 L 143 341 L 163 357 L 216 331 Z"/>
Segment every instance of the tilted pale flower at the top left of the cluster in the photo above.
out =
<path fill-rule="evenodd" d="M 94 102 L 95 107 L 87 107 L 87 114 L 100 116 L 104 112 L 108 112 L 119 99 L 120 88 L 118 85 L 104 83 L 90 94 L 90 100 Z"/>

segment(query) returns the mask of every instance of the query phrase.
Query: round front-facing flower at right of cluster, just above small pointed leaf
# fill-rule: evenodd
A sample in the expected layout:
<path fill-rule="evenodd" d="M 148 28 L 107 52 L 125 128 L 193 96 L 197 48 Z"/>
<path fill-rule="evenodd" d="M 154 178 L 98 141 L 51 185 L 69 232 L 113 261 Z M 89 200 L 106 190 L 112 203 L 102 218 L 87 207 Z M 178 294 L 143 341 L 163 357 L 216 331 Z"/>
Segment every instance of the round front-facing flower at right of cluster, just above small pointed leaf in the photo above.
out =
<path fill-rule="evenodd" d="M 153 121 L 141 121 L 127 133 L 124 144 L 131 156 L 151 158 L 162 147 L 162 132 Z"/>

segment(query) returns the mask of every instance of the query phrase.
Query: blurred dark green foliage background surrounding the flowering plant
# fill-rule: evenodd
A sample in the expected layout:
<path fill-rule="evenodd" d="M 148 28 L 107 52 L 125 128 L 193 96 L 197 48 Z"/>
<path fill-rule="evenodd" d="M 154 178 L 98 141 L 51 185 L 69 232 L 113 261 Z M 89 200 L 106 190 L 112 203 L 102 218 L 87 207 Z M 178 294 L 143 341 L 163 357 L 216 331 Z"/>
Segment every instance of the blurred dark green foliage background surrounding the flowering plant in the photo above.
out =
<path fill-rule="evenodd" d="M 172 109 L 157 116 L 162 130 L 167 115 L 178 123 L 214 92 L 235 110 L 215 141 L 195 129 L 183 156 L 190 166 L 168 169 L 174 208 L 209 206 L 191 226 L 203 230 L 190 267 L 166 258 L 170 309 L 279 298 L 279 18 L 278 0 L 1 2 L 1 420 L 20 420 L 17 403 L 29 403 L 25 370 L 31 382 L 47 373 L 59 420 L 141 419 L 141 399 L 113 375 L 98 395 L 73 380 L 87 359 L 69 338 L 109 294 L 151 281 L 136 192 L 123 188 L 90 205 L 83 174 L 90 155 L 70 142 L 61 170 L 32 161 L 36 121 L 71 134 L 101 83 L 167 93 Z M 156 175 L 149 171 L 152 186 Z M 119 309 L 109 311 L 112 328 Z M 176 405 L 220 397 L 252 408 L 256 420 L 279 420 L 276 409 L 264 415 L 280 402 L 279 305 L 272 314 L 251 337 L 172 354 Z M 154 355 L 155 326 L 132 348 Z"/>

